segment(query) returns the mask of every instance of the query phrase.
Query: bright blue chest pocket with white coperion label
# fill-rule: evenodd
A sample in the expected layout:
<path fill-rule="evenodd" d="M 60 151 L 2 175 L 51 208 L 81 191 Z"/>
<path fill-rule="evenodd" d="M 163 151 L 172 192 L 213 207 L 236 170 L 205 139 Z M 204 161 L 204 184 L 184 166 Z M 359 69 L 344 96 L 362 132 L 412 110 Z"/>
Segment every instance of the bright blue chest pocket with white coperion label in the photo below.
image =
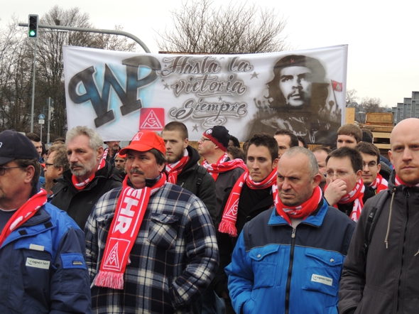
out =
<path fill-rule="evenodd" d="M 334 251 L 305 249 L 307 266 L 303 288 L 337 296 L 344 256 Z"/>

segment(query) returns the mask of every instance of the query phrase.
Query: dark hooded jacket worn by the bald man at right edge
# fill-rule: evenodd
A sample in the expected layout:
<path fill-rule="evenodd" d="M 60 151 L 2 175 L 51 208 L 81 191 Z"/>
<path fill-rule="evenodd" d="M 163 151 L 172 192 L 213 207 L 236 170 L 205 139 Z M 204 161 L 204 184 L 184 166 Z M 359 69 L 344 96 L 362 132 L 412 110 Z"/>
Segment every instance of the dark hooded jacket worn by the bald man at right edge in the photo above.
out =
<path fill-rule="evenodd" d="M 405 185 L 395 188 L 393 178 L 393 182 L 388 182 L 388 190 L 381 191 L 388 195 L 366 259 L 363 254 L 366 220 L 377 196 L 366 201 L 357 222 L 340 281 L 341 314 L 418 313 L 419 188 Z M 388 248 L 384 242 L 386 235 Z"/>

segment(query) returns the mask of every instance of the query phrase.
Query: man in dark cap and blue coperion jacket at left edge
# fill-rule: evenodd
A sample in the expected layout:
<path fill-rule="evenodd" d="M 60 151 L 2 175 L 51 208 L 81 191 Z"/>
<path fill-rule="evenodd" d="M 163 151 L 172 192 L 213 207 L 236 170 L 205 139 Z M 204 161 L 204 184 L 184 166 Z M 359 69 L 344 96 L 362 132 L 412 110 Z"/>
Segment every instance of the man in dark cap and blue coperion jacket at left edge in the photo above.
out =
<path fill-rule="evenodd" d="M 91 313 L 85 234 L 38 189 L 39 153 L 0 133 L 0 313 Z"/>

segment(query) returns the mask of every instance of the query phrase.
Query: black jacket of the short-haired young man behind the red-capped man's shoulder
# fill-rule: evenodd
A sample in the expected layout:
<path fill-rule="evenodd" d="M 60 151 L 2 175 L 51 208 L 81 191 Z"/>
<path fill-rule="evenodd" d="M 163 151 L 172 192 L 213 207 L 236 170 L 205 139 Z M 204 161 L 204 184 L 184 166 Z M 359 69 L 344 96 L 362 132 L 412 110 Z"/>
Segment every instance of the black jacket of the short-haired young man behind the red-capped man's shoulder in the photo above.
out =
<path fill-rule="evenodd" d="M 212 175 L 207 172 L 207 169 L 198 165 L 200 154 L 197 150 L 192 146 L 187 146 L 186 149 L 190 159 L 183 167 L 182 172 L 178 175 L 178 182 L 176 182 L 176 185 L 179 185 L 181 188 L 184 188 L 199 197 L 202 202 L 204 202 L 205 207 L 207 207 L 212 222 L 214 223 L 216 217 L 214 179 L 212 178 Z M 202 178 L 201 183 L 197 184 L 199 168 L 202 168 L 201 171 L 203 175 L 200 175 L 200 178 Z"/>

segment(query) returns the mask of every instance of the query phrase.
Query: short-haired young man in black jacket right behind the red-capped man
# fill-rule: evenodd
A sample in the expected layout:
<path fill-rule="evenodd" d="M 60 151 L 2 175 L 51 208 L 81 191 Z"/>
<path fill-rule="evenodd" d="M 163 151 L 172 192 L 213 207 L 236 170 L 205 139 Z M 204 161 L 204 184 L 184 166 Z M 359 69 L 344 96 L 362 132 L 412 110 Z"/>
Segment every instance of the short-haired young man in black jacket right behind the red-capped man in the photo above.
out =
<path fill-rule="evenodd" d="M 212 221 L 215 221 L 215 183 L 207 169 L 198 165 L 200 154 L 189 145 L 187 127 L 173 121 L 165 125 L 162 132 L 166 146 L 166 172 L 168 182 L 200 197 Z"/>

